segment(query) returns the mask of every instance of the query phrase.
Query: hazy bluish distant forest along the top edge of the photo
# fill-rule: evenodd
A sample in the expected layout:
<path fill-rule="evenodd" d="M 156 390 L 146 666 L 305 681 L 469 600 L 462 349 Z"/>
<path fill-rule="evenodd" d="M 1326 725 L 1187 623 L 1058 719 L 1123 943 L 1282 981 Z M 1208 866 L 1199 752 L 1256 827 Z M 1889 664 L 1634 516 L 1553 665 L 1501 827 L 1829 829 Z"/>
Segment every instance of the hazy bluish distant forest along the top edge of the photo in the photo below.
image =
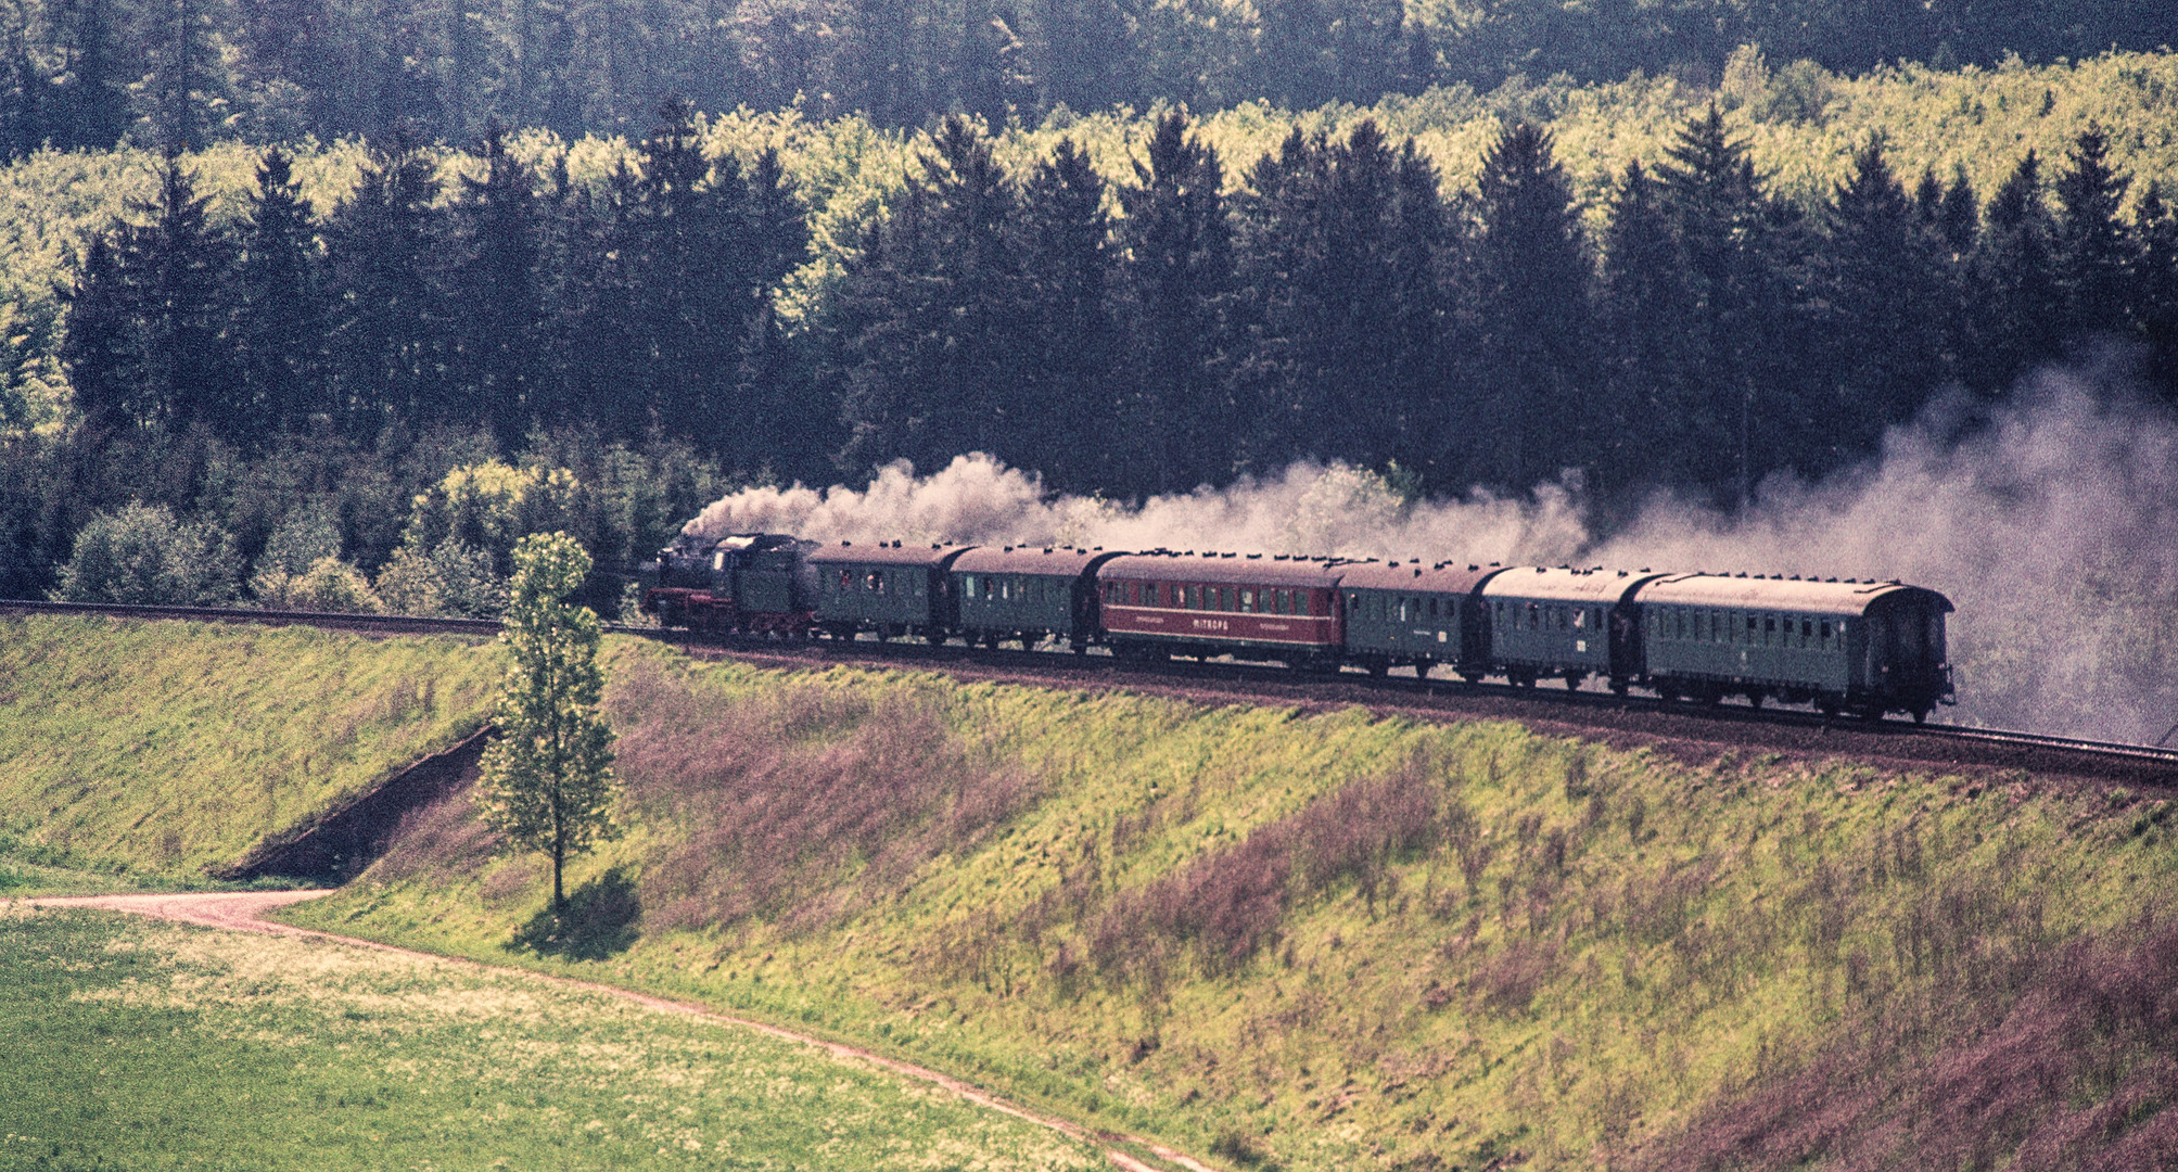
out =
<path fill-rule="evenodd" d="M 1714 83 L 1734 46 L 1867 72 L 2154 50 L 2161 0 L 11 0 L 0 155 L 39 144 L 192 150 L 211 139 L 473 142 L 490 124 L 638 133 L 699 109 L 989 124 L 1154 102 L 1370 105 L 1512 76 Z"/>

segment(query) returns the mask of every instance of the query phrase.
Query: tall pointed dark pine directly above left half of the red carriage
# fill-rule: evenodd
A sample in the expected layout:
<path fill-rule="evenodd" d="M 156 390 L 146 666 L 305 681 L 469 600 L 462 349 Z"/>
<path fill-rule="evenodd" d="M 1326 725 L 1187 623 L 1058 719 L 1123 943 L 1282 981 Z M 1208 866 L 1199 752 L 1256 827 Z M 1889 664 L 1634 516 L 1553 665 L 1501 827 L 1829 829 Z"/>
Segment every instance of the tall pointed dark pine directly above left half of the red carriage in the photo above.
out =
<path fill-rule="evenodd" d="M 1218 150 L 1165 113 L 1135 183 L 1119 190 L 1137 399 L 1124 412 L 1126 492 L 1185 492 L 1231 475 L 1237 418 L 1222 388 L 1233 229 Z"/>

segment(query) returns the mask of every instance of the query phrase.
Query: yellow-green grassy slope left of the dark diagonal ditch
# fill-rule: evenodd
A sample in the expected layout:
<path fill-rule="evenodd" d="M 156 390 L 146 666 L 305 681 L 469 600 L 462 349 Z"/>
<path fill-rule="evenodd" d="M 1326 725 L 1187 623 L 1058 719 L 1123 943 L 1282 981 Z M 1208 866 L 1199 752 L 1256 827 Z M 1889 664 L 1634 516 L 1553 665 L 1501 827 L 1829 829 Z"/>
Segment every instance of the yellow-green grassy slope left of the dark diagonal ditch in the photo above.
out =
<path fill-rule="evenodd" d="M 196 880 L 484 725 L 481 640 L 0 619 L 0 837 Z"/>

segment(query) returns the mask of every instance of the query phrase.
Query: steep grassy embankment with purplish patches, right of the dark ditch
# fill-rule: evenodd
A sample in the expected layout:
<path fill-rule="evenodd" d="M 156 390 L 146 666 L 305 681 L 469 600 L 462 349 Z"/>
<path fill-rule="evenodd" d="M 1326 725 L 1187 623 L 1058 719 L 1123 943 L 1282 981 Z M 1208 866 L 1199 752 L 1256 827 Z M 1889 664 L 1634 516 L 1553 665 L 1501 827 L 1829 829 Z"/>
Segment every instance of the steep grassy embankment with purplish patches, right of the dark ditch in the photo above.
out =
<path fill-rule="evenodd" d="M 1231 1165 L 1917 1165 L 1928 1128 L 2002 1161 L 2178 1124 L 2143 1091 L 2174 1057 L 2163 795 L 612 656 L 627 834 L 568 926 L 460 802 L 294 917 L 806 1024 Z M 2049 1061 L 2002 1128 L 1910 1094 L 2021 1037 Z"/>

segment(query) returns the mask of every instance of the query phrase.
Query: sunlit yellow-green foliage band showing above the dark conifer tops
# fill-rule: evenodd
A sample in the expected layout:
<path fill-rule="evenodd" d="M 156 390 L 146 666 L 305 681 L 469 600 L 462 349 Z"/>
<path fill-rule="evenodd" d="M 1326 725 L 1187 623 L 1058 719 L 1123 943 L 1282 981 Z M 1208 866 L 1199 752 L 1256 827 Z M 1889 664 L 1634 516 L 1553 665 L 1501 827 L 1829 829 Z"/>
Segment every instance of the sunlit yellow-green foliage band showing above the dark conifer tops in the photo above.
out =
<path fill-rule="evenodd" d="M 1483 150 L 1503 118 L 1531 118 L 1551 126 L 1557 157 L 1601 224 L 1612 183 L 1629 161 L 1655 163 L 1688 118 L 1708 102 L 1727 111 L 1727 126 L 1742 137 L 1773 187 L 1797 200 L 1819 200 L 1847 174 L 1851 155 L 1882 133 L 1893 170 L 1914 179 L 1932 168 L 1949 181 L 1962 168 L 1986 200 L 1997 183 L 2034 148 L 2052 166 L 2100 120 L 2110 135 L 2110 163 L 2130 172 L 2134 194 L 2150 181 L 2178 190 L 2178 54 L 2108 52 L 2078 63 L 1932 70 L 1882 68 L 1864 76 L 1834 76 L 1812 63 L 1766 63 L 1740 50 L 1718 87 L 1673 76 L 1631 76 L 1603 85 L 1525 81 L 1477 96 L 1466 87 L 1422 96 L 1387 96 L 1374 107 L 1324 107 L 1289 113 L 1265 102 L 1209 113 L 1198 133 L 1226 163 L 1228 187 L 1259 157 L 1300 126 L 1307 133 L 1344 133 L 1374 118 L 1394 137 L 1414 137 L 1437 163 L 1448 192 L 1468 190 Z M 1161 113 L 1161 111 L 1150 111 Z M 1117 183 L 1135 176 L 1150 118 L 1135 111 L 1078 115 L 1059 111 L 1037 126 L 998 129 L 995 155 L 1011 174 L 1026 176 L 1048 159 L 1061 137 L 1089 150 L 1098 170 Z M 778 148 L 786 176 L 810 209 L 808 264 L 786 281 L 784 316 L 799 320 L 823 296 L 862 227 L 895 198 L 926 137 L 882 131 L 860 118 L 815 122 L 799 111 L 734 111 L 708 122 L 710 150 L 743 163 Z M 516 157 L 544 172 L 566 163 L 577 185 L 601 187 L 612 170 L 634 157 L 627 139 L 584 137 L 560 142 L 547 131 L 512 137 Z M 351 142 L 296 146 L 296 174 L 311 207 L 325 216 L 353 187 L 364 148 Z M 157 157 L 142 150 L 44 150 L 0 168 L 0 344 L 9 370 L 28 399 L 33 423 L 59 418 L 65 377 L 57 362 L 63 307 L 54 285 L 72 281 L 91 229 L 155 194 Z M 211 218 L 233 220 L 257 183 L 257 152 L 220 144 L 189 159 L 200 194 L 211 196 Z M 477 174 L 475 159 L 446 150 L 440 176 L 446 196 L 457 174 Z M 2047 170 L 2045 170 L 2047 174 Z M 1115 207 L 1115 203 L 1113 203 Z"/>

